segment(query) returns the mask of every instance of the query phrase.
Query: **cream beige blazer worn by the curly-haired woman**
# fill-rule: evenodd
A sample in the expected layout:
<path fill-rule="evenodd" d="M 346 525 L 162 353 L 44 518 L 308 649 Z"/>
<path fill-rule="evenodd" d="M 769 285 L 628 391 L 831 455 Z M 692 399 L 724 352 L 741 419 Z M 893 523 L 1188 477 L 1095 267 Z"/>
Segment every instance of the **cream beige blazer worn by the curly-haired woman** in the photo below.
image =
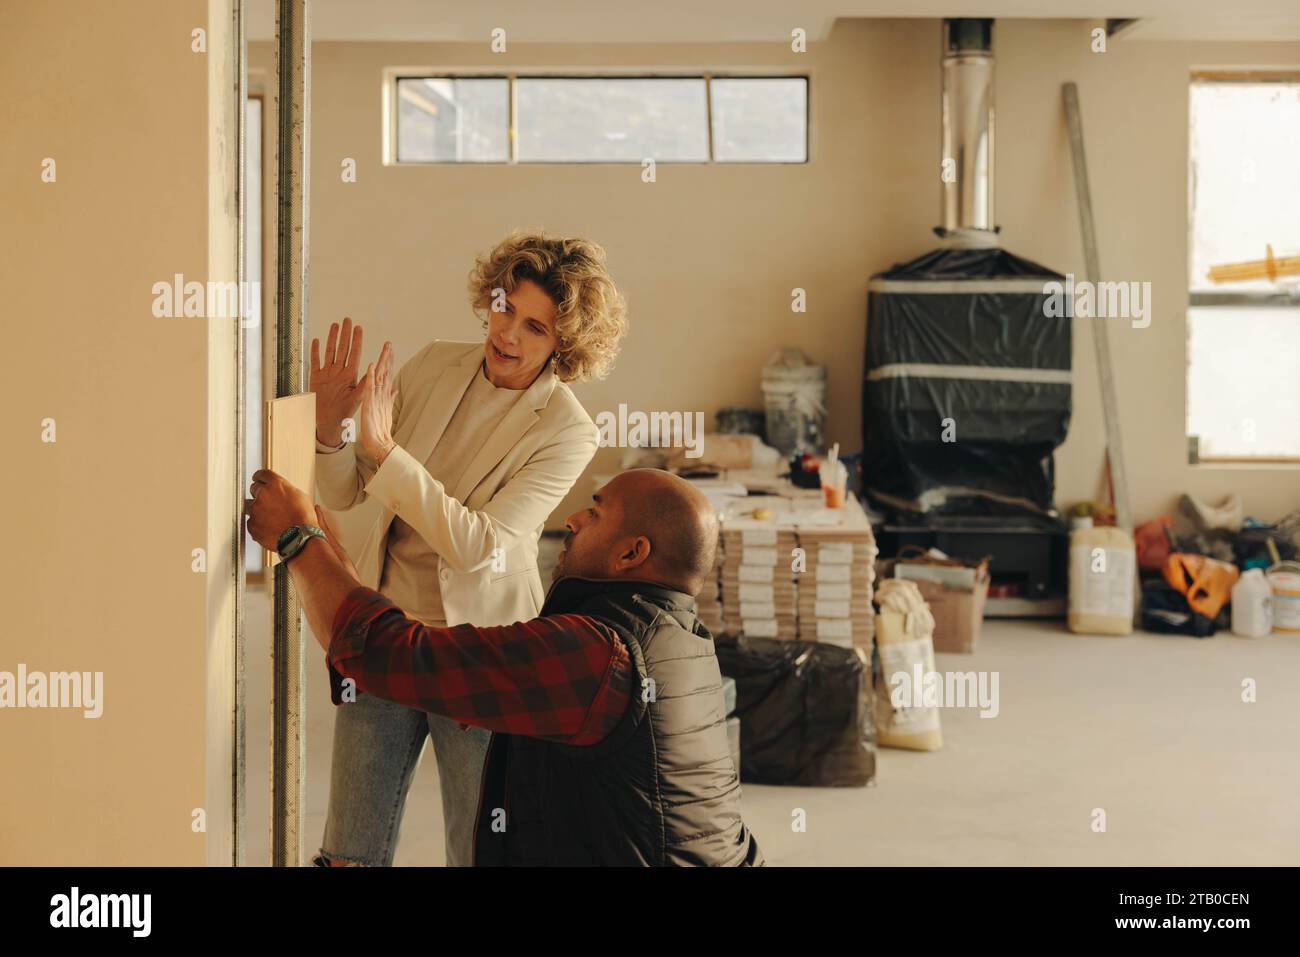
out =
<path fill-rule="evenodd" d="M 434 339 L 396 376 L 393 438 L 396 447 L 374 467 L 358 442 L 341 450 L 317 443 L 321 502 L 347 510 L 367 498 L 382 505 L 354 555 L 361 584 L 378 588 L 389 525 L 398 515 L 438 554 L 447 624 L 511 624 L 536 618 L 545 592 L 537 540 L 547 516 L 595 455 L 599 432 L 547 364 L 474 454 L 456 488 L 425 469 L 484 358 L 482 342 Z M 502 562 L 493 562 L 502 549 Z M 494 566 L 497 570 L 494 570 Z"/>

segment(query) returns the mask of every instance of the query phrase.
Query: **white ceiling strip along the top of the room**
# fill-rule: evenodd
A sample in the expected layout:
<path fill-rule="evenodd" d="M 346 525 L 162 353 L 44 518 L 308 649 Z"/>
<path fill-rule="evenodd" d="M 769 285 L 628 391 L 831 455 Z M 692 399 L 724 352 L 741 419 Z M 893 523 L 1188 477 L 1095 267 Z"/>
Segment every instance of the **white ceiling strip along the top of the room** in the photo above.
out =
<path fill-rule="evenodd" d="M 274 0 L 247 0 L 248 38 L 274 35 Z M 1136 17 L 1126 39 L 1300 40 L 1297 0 L 311 0 L 315 40 L 486 43 L 824 39 L 838 17 Z"/>

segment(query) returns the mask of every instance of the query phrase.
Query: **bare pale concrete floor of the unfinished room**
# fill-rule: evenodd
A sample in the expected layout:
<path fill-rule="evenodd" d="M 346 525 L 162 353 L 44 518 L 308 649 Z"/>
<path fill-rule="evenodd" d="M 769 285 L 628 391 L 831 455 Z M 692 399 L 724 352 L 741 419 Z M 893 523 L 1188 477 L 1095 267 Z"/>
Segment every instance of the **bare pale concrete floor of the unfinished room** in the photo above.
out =
<path fill-rule="evenodd" d="M 250 592 L 247 861 L 268 859 L 269 607 Z M 308 640 L 307 853 L 325 826 L 334 706 Z M 1300 638 L 1070 635 L 985 622 L 974 655 L 1001 713 L 942 713 L 944 748 L 881 749 L 876 784 L 748 784 L 744 814 L 774 865 L 1295 865 L 1300 862 Z M 1242 701 L 1254 679 L 1257 702 Z M 257 706 L 257 702 L 263 702 Z M 1092 830 L 1093 809 L 1106 814 Z M 794 809 L 806 832 L 794 832 Z M 442 865 L 437 762 L 407 801 L 396 865 Z"/>

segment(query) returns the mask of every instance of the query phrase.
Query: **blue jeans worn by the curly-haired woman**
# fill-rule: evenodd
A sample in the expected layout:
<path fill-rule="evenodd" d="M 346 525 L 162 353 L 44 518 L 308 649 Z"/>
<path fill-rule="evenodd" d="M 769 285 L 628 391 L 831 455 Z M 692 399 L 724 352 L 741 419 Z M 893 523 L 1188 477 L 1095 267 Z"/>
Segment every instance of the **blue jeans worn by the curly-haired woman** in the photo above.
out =
<path fill-rule="evenodd" d="M 473 863 L 478 788 L 491 735 L 373 694 L 335 709 L 324 856 L 373 867 L 393 865 L 425 735 L 438 758 L 447 866 Z"/>

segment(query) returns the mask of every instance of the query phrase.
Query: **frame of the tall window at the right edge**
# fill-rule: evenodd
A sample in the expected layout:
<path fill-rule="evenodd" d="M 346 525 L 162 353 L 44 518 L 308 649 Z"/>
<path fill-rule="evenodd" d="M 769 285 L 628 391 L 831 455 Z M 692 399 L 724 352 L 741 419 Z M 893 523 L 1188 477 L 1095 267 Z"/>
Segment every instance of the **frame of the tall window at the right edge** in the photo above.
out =
<path fill-rule="evenodd" d="M 1192 70 L 1187 85 L 1187 122 L 1188 134 L 1192 125 L 1192 90 L 1199 83 L 1296 83 L 1300 85 L 1300 70 L 1292 69 L 1234 69 L 1234 70 Z M 1204 291 L 1193 290 L 1192 286 L 1192 256 L 1196 246 L 1196 222 L 1193 213 L 1196 209 L 1196 183 L 1195 176 L 1196 157 L 1192 155 L 1192 142 L 1188 135 L 1187 143 L 1187 306 L 1184 322 L 1184 347 L 1188 361 L 1184 369 L 1184 385 L 1190 387 L 1191 373 L 1191 309 L 1216 307 L 1242 307 L 1252 308 L 1300 308 L 1300 286 L 1295 291 L 1283 290 L 1242 290 L 1242 291 Z M 1300 465 L 1300 452 L 1295 455 L 1204 455 L 1200 450 L 1200 436 L 1193 436 L 1187 421 L 1187 407 L 1183 410 L 1183 432 L 1187 441 L 1187 460 L 1192 465 Z"/>

